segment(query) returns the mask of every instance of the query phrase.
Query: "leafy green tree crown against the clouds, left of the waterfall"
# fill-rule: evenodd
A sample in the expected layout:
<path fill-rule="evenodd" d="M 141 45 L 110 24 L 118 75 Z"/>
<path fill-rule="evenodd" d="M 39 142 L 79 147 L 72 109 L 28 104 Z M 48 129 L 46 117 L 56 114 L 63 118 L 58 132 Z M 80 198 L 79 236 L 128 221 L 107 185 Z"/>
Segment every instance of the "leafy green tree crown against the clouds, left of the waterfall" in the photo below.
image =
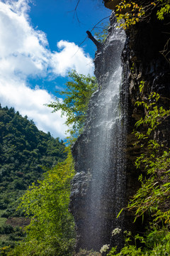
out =
<path fill-rule="evenodd" d="M 80 75 L 75 70 L 69 73 L 69 82 L 67 82 L 66 90 L 58 92 L 64 96 L 61 102 L 56 98 L 56 102 L 51 102 L 48 107 L 52 107 L 56 112 L 62 110 L 62 115 L 66 115 L 67 120 L 65 124 L 71 127 L 71 135 L 79 134 L 86 119 L 86 111 L 90 97 L 97 88 L 96 78 L 90 75 Z"/>

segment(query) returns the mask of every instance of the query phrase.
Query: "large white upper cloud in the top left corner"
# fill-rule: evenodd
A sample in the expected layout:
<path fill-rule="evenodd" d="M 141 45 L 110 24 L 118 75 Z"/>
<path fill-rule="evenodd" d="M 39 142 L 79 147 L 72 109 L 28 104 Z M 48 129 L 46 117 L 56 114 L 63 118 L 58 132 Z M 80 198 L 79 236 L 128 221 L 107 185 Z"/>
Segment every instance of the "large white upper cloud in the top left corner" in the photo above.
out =
<path fill-rule="evenodd" d="M 50 51 L 42 31 L 26 15 L 25 0 L 0 2 L 0 75 L 45 75 Z"/>

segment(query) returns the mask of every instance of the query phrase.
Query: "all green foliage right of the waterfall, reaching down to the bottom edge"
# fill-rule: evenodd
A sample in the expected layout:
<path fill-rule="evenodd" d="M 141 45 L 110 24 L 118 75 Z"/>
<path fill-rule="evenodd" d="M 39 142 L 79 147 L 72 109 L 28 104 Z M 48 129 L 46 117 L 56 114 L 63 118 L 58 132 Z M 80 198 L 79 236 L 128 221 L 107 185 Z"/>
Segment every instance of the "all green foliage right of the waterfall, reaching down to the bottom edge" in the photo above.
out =
<path fill-rule="evenodd" d="M 143 86 L 145 83 L 141 82 L 141 94 Z M 167 99 L 156 92 L 148 97 L 145 95 L 142 99 L 136 105 L 145 109 L 145 116 L 136 122 L 134 131 L 136 144 L 140 145 L 143 152 L 135 161 L 135 166 L 141 173 L 141 188 L 125 209 L 134 214 L 135 220 L 147 215 L 147 232 L 144 236 L 136 235 L 134 238 L 131 233 L 126 233 L 125 247 L 119 253 L 113 247 L 108 256 L 154 256 L 170 253 L 170 149 L 166 139 L 159 139 L 164 124 L 166 127 L 169 122 L 170 110 L 162 106 L 162 102 Z M 141 246 L 141 242 L 143 246 L 138 247 L 137 244 Z"/>

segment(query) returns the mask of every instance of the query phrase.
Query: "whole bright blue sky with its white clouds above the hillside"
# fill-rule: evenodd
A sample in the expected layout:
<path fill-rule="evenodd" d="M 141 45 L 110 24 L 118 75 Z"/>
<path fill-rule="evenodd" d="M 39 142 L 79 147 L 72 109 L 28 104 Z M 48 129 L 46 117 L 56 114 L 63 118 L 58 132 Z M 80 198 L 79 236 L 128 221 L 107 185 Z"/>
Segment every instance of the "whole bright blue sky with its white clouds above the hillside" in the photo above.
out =
<path fill-rule="evenodd" d="M 14 107 L 61 139 L 65 117 L 44 104 L 55 100 L 69 70 L 93 74 L 96 47 L 84 41 L 86 30 L 111 14 L 101 0 L 80 0 L 78 21 L 76 5 L 77 0 L 0 1 L 1 106 Z"/>

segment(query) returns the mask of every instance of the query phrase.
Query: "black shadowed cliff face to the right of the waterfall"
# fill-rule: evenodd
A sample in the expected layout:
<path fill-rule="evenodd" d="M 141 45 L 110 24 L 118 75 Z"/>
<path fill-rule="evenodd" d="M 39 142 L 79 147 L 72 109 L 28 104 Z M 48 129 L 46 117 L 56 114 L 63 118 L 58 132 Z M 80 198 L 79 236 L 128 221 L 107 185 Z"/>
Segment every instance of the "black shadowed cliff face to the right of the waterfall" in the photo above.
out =
<path fill-rule="evenodd" d="M 159 21 L 156 14 L 153 14 L 149 22 L 137 23 L 126 31 L 122 61 L 125 70 L 123 90 L 128 87 L 128 169 L 133 169 L 134 160 L 140 154 L 140 149 L 133 146 L 135 138 L 132 135 L 135 122 L 144 114 L 143 109 L 135 107 L 135 102 L 140 99 L 140 82 L 145 82 L 142 92 L 144 99 L 150 92 L 158 92 L 166 98 L 162 102 L 164 107 L 170 105 L 170 65 L 162 54 L 169 39 L 169 28 L 168 19 Z M 160 139 L 164 137 L 170 145 L 168 125 L 159 132 Z"/>

